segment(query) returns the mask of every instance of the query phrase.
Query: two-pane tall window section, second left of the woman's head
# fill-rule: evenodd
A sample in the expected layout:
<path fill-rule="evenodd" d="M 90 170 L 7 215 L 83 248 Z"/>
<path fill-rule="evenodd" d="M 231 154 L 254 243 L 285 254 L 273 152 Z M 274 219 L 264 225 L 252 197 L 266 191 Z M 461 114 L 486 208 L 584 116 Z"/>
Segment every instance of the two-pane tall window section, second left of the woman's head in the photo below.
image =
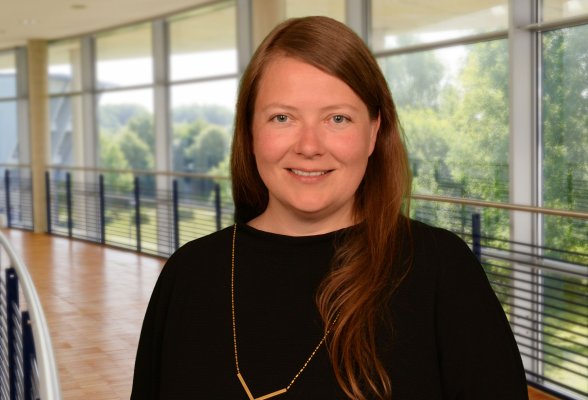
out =
<path fill-rule="evenodd" d="M 110 31 L 95 39 L 100 167 L 154 167 L 151 39 L 150 24 Z M 119 178 L 109 175 L 108 183 Z"/>

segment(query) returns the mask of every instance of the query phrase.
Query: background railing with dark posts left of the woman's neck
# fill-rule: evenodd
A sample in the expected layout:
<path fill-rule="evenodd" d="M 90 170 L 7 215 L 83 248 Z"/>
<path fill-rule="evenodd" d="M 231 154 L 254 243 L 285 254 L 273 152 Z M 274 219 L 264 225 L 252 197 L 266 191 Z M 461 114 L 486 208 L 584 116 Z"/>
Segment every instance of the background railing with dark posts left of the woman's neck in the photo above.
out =
<path fill-rule="evenodd" d="M 45 180 L 48 232 L 57 235 L 167 257 L 233 221 L 226 178 L 55 169 Z"/>

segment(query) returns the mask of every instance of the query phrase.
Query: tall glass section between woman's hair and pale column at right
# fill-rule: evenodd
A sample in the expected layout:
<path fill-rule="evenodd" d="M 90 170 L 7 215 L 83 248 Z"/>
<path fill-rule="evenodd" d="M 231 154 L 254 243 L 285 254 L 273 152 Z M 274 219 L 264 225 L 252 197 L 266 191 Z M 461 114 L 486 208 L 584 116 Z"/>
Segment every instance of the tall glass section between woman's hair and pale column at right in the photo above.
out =
<path fill-rule="evenodd" d="M 507 2 L 376 0 L 372 7 L 372 47 L 398 108 L 413 193 L 508 202 L 508 41 L 462 44 L 479 33 L 506 36 Z M 425 43 L 422 51 L 414 47 Z M 430 206 L 415 203 L 413 216 L 468 230 L 467 213 Z M 508 239 L 508 213 L 483 214 L 485 233 Z"/>

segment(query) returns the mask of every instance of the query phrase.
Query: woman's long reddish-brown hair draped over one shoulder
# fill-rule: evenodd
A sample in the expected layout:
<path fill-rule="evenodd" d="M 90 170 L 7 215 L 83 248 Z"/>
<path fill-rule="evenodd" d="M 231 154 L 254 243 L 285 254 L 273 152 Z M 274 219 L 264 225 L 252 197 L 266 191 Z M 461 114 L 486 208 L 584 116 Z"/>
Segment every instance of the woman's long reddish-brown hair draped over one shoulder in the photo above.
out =
<path fill-rule="evenodd" d="M 402 280 L 397 258 L 408 228 L 410 172 L 396 109 L 386 80 L 364 42 L 327 17 L 287 20 L 261 43 L 243 77 L 237 99 L 231 174 L 236 219 L 246 222 L 268 204 L 268 190 L 253 154 L 252 120 L 259 82 L 272 59 L 294 57 L 345 82 L 380 117 L 375 149 L 354 200 L 356 229 L 337 246 L 330 274 L 317 293 L 325 324 L 337 319 L 328 350 L 335 375 L 352 399 L 391 397 L 391 383 L 376 352 L 376 328 Z M 360 223 L 361 222 L 361 223 Z"/>

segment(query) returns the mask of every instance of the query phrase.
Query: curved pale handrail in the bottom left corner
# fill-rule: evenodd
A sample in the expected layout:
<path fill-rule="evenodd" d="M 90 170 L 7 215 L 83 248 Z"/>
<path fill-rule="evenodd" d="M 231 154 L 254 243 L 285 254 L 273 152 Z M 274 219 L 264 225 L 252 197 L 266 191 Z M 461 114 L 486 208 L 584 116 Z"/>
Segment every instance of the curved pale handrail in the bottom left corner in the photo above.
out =
<path fill-rule="evenodd" d="M 19 284 L 23 289 L 28 311 L 31 315 L 31 325 L 37 353 L 36 357 L 40 372 L 39 392 L 41 399 L 61 400 L 61 388 L 59 385 L 55 355 L 53 353 L 53 345 L 51 344 L 51 336 L 49 335 L 47 321 L 41 307 L 39 296 L 37 295 L 37 291 L 35 290 L 35 286 L 27 267 L 16 254 L 12 245 L 2 232 L 0 232 L 0 245 L 4 247 L 4 250 L 13 264 L 12 266 L 16 270 Z"/>

